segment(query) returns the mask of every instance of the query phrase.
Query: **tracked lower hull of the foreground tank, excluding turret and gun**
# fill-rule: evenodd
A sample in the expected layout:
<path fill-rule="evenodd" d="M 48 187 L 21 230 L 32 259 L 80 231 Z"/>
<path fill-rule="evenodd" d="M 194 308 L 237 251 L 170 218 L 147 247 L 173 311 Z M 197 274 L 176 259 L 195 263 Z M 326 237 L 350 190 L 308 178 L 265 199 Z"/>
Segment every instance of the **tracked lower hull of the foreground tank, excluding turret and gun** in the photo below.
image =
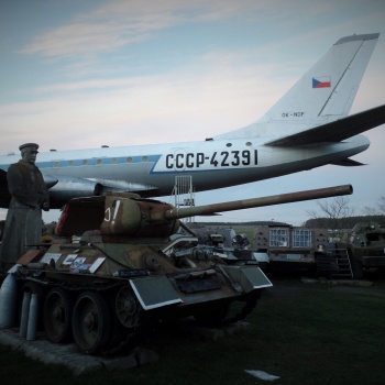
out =
<path fill-rule="evenodd" d="M 272 283 L 255 262 L 227 265 L 196 254 L 196 241 L 53 244 L 19 261 L 18 308 L 24 293 L 38 294 L 47 338 L 74 338 L 86 354 L 134 348 L 138 336 L 158 322 L 193 316 L 211 326 L 244 318 Z M 245 310 L 227 318 L 235 301 Z"/>

